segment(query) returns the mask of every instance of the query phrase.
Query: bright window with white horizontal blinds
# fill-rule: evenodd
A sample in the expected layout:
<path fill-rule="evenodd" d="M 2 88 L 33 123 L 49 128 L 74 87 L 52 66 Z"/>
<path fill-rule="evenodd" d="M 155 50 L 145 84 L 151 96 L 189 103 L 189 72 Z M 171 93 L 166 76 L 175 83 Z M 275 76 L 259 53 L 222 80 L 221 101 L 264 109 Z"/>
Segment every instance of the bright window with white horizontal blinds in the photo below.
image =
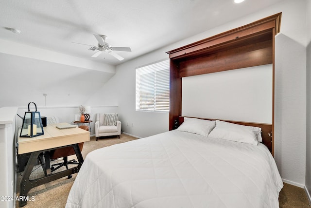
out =
<path fill-rule="evenodd" d="M 136 69 L 136 110 L 169 112 L 169 60 Z"/>

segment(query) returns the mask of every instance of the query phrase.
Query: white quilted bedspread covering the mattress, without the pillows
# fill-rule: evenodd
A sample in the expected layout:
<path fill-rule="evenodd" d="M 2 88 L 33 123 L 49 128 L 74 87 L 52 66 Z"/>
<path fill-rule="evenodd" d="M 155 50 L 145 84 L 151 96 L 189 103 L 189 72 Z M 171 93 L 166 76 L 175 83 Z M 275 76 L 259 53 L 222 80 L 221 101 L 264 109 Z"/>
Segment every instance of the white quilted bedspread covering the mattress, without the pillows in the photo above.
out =
<path fill-rule="evenodd" d="M 171 131 L 90 152 L 66 208 L 278 208 L 268 149 Z"/>

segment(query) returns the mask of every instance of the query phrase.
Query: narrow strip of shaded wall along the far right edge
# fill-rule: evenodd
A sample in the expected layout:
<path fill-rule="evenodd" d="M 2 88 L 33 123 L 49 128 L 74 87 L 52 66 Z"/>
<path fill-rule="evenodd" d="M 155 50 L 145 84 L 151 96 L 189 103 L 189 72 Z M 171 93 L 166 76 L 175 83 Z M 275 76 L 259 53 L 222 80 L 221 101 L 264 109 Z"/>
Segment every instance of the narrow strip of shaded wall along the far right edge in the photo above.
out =
<path fill-rule="evenodd" d="M 306 6 L 307 28 L 307 141 L 306 141 L 306 190 L 311 202 L 311 0 Z"/>

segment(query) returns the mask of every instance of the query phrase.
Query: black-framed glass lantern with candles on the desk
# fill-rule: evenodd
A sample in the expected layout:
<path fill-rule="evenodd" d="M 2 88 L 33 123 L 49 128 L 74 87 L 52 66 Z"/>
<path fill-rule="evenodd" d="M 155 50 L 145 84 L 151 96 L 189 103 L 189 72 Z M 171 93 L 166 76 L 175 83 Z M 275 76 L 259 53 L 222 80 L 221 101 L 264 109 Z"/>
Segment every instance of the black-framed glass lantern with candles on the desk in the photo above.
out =
<path fill-rule="evenodd" d="M 30 103 L 28 103 L 28 112 L 25 112 L 23 126 L 20 131 L 20 137 L 35 137 L 44 134 L 40 112 L 37 111 L 36 105 L 35 112 L 30 112 Z"/>

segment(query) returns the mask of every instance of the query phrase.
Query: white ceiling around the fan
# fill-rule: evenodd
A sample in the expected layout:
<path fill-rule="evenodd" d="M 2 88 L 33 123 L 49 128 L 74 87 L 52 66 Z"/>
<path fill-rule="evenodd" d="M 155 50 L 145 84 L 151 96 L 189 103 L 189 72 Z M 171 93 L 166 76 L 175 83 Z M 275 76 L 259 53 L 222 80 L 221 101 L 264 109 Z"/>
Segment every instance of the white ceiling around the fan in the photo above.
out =
<path fill-rule="evenodd" d="M 118 65 L 279 1 L 0 0 L 0 39 Z M 117 52 L 122 61 L 106 53 L 94 58 L 89 46 L 72 43 L 96 46 L 93 34 L 132 52 Z"/>

